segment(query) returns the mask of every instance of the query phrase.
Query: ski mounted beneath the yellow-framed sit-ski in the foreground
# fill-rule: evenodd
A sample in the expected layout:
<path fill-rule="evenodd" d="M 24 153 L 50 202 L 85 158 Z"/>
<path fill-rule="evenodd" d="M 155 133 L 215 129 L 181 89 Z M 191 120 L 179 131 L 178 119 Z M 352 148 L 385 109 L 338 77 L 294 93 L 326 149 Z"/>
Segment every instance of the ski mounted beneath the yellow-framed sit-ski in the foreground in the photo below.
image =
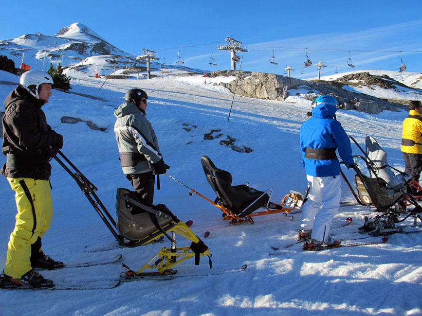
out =
<path fill-rule="evenodd" d="M 122 272 L 120 274 L 120 281 L 121 282 L 165 281 L 165 280 L 173 280 L 177 278 L 186 278 L 186 277 L 206 277 L 206 276 L 212 276 L 212 275 L 220 275 L 220 274 L 226 274 L 226 273 L 245 271 L 247 266 L 248 266 L 247 264 L 243 264 L 242 266 L 238 268 L 224 269 L 224 270 L 205 272 L 205 273 L 189 273 L 189 274 L 163 274 L 163 273 L 158 273 L 158 272 L 144 272 L 144 273 L 141 272 L 140 274 L 136 274 L 134 271 L 129 270 L 126 272 Z"/>

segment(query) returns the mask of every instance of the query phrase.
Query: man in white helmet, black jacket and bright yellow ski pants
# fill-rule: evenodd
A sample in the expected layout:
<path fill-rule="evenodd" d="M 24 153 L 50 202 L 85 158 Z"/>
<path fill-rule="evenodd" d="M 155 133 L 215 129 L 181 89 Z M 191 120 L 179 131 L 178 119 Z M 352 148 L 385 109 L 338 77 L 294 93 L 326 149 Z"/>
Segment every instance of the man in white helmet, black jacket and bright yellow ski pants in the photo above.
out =
<path fill-rule="evenodd" d="M 53 286 L 34 268 L 54 269 L 54 261 L 41 250 L 41 237 L 50 228 L 51 165 L 47 147 L 62 148 L 63 137 L 47 124 L 41 107 L 48 102 L 53 79 L 43 71 L 30 70 L 4 101 L 3 147 L 6 164 L 1 174 L 16 192 L 16 226 L 10 235 L 3 285 Z"/>

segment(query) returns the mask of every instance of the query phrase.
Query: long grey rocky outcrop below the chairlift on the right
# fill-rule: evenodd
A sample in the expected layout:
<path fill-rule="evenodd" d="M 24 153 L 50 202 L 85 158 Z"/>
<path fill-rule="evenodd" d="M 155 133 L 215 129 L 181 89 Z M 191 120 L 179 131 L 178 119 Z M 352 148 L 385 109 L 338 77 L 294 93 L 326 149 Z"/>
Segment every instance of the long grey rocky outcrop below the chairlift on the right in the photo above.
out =
<path fill-rule="evenodd" d="M 388 102 L 367 94 L 354 93 L 344 89 L 344 83 L 339 82 L 314 82 L 290 78 L 274 73 L 263 72 L 245 72 L 236 70 L 216 71 L 209 73 L 210 77 L 216 76 L 238 76 L 239 80 L 236 86 L 236 80 L 230 83 L 220 83 L 221 86 L 228 88 L 236 94 L 265 100 L 284 101 L 289 96 L 287 90 L 305 89 L 308 90 L 307 99 L 314 101 L 317 95 L 332 95 L 337 99 L 340 108 L 345 110 L 358 110 L 362 112 L 378 114 L 383 110 L 398 111 L 399 108 L 407 109 L 407 105 Z M 379 80 L 379 76 L 361 75 L 359 78 L 367 78 L 368 85 L 383 83 L 388 87 L 387 80 Z M 378 77 L 378 78 L 373 78 Z M 358 77 L 357 77 L 358 78 Z M 356 78 L 343 78 L 342 80 L 357 80 Z M 394 88 L 393 86 L 389 86 Z"/>

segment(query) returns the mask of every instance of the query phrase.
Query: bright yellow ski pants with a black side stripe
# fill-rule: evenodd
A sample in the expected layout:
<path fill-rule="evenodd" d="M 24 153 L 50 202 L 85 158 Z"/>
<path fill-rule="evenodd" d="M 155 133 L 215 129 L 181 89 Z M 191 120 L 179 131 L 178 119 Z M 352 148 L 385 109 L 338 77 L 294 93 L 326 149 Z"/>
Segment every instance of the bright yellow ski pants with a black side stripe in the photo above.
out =
<path fill-rule="evenodd" d="M 31 178 L 7 178 L 15 191 L 15 229 L 10 234 L 7 246 L 4 273 L 12 278 L 20 278 L 32 269 L 31 245 L 50 228 L 53 203 L 49 180 Z"/>

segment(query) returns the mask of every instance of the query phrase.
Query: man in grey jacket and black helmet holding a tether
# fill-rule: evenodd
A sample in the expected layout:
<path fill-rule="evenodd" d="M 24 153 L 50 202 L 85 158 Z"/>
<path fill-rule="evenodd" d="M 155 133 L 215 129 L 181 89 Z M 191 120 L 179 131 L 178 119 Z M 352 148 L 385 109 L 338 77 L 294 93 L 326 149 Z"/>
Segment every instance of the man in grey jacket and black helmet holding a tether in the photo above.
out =
<path fill-rule="evenodd" d="M 152 206 L 155 175 L 165 174 L 166 165 L 154 129 L 145 117 L 147 99 L 144 90 L 130 89 L 126 92 L 126 102 L 114 111 L 114 116 L 117 118 L 114 134 L 123 173 L 132 184 L 140 201 Z"/>

